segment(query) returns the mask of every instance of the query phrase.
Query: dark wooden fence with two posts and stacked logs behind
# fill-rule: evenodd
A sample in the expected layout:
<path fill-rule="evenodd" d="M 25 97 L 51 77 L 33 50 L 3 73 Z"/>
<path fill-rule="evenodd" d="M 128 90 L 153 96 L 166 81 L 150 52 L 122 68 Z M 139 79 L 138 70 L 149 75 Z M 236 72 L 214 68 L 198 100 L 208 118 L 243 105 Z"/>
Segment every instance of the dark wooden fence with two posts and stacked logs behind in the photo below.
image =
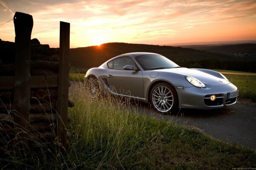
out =
<path fill-rule="evenodd" d="M 36 52 L 49 50 L 47 45 L 30 44 L 31 15 L 16 12 L 14 25 L 15 56 L 9 42 L 10 56 L 3 54 L 0 62 L 0 152 L 7 147 L 3 139 L 20 148 L 30 147 L 34 139 L 30 140 L 29 133 L 65 148 L 70 120 L 67 108 L 73 107 L 68 99 L 70 24 L 60 22 L 59 60 L 44 56 L 49 51 Z"/>

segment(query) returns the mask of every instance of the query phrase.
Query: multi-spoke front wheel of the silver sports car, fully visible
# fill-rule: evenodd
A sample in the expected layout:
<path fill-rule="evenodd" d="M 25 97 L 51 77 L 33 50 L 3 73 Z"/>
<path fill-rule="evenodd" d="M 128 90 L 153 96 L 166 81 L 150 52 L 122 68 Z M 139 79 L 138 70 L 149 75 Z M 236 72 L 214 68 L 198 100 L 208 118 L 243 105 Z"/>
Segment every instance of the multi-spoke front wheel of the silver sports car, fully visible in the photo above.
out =
<path fill-rule="evenodd" d="M 161 82 L 155 85 L 151 90 L 151 105 L 162 113 L 176 113 L 178 108 L 177 92 L 172 85 Z"/>

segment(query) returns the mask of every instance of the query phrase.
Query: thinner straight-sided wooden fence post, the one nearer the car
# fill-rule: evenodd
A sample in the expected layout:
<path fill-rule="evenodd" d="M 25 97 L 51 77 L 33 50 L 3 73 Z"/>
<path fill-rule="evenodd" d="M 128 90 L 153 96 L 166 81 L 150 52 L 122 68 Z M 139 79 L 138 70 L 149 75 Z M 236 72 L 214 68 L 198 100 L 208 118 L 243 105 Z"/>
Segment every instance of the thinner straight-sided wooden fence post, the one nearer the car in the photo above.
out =
<path fill-rule="evenodd" d="M 70 68 L 70 23 L 60 22 L 60 63 L 58 78 L 58 139 L 66 147 L 67 144 L 67 108 Z"/>

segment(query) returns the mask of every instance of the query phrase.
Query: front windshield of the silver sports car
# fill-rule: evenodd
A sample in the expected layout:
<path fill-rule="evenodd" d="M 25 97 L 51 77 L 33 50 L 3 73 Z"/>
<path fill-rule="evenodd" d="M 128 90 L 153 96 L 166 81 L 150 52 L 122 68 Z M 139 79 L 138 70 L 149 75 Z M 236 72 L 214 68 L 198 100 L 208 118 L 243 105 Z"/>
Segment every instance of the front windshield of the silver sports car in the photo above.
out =
<path fill-rule="evenodd" d="M 136 57 L 137 62 L 140 63 L 144 70 L 155 70 L 163 68 L 179 67 L 175 62 L 172 62 L 161 55 L 143 55 Z"/>

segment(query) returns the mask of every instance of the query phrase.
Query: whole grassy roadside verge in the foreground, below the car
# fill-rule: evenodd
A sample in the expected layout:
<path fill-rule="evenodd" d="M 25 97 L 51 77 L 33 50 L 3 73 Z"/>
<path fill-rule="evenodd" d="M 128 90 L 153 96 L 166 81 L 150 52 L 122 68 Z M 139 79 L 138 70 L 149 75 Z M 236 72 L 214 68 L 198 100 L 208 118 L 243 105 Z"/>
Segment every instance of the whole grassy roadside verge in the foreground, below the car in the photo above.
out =
<path fill-rule="evenodd" d="M 3 169 L 215 170 L 256 167 L 256 151 L 212 139 L 174 122 L 136 113 L 128 99 L 99 96 L 72 83 L 71 136 L 66 152 L 41 147 L 0 157 Z M 6 141 L 8 142 L 8 141 Z M 39 141 L 40 143 L 40 141 Z M 44 146 L 44 145 L 42 145 Z"/>

